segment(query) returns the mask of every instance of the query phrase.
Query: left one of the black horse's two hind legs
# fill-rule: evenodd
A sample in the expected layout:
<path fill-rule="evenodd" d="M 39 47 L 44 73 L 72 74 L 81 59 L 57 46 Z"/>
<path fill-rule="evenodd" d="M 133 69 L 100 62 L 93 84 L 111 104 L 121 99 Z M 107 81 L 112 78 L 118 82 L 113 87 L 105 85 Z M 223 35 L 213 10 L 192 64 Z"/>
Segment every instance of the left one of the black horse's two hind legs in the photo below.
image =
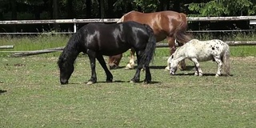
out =
<path fill-rule="evenodd" d="M 141 58 L 142 58 L 142 51 L 138 51 L 136 52 L 137 54 L 137 61 L 138 61 L 138 67 L 136 69 L 136 73 L 134 75 L 134 78 L 132 78 L 130 80 L 130 82 L 139 82 L 139 78 L 140 78 L 140 73 L 141 73 L 141 70 L 142 70 L 142 63 L 141 63 Z"/>

